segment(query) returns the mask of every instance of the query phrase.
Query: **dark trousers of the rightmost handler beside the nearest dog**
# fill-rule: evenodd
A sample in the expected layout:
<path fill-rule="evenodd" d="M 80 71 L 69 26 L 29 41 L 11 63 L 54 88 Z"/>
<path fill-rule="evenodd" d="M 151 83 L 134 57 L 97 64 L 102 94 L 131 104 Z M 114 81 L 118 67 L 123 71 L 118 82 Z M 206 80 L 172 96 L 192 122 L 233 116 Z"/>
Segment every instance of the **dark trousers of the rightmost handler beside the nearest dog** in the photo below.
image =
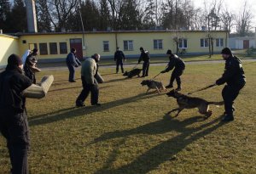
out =
<path fill-rule="evenodd" d="M 226 115 L 233 115 L 233 104 L 234 100 L 237 98 L 239 91 L 244 85 L 240 86 L 230 86 L 225 85 L 222 90 L 222 98 L 224 99 L 224 109 Z"/>

